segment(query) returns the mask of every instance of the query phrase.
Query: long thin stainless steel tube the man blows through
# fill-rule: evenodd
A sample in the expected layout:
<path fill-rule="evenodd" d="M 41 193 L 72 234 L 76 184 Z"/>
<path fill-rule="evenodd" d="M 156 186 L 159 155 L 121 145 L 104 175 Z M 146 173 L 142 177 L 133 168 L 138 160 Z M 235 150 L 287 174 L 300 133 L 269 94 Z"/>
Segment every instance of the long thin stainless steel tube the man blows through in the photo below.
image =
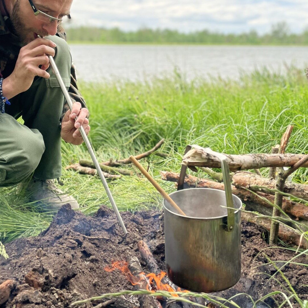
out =
<path fill-rule="evenodd" d="M 59 74 L 59 70 L 58 70 L 58 68 L 57 68 L 57 66 L 55 64 L 55 61 L 54 61 L 54 59 L 53 59 L 53 57 L 51 55 L 48 55 L 48 59 L 49 59 L 49 63 L 50 63 L 50 66 L 52 68 L 52 71 L 54 72 L 55 77 L 56 77 L 56 79 L 57 79 L 57 81 L 59 83 L 59 86 L 60 86 L 60 88 L 61 88 L 61 90 L 63 92 L 63 95 L 64 95 L 64 97 L 65 97 L 65 99 L 67 101 L 67 104 L 68 104 L 69 108 L 72 110 L 73 103 L 72 103 L 71 97 L 68 94 L 68 91 L 67 91 L 67 89 L 66 89 L 66 87 L 65 87 L 65 85 L 63 83 L 63 80 L 62 80 L 60 74 Z M 120 226 L 122 227 L 124 234 L 127 234 L 127 230 L 125 228 L 125 225 L 124 225 L 124 222 L 122 220 L 122 217 L 121 217 L 121 215 L 119 213 L 119 210 L 118 210 L 118 208 L 117 208 L 117 206 L 115 204 L 115 201 L 113 200 L 113 197 L 112 197 L 110 189 L 109 189 L 109 187 L 107 185 L 106 179 L 105 179 L 105 177 L 103 175 L 103 172 L 102 172 L 101 168 L 99 167 L 99 163 L 98 163 L 98 161 L 97 161 L 97 159 L 95 157 L 95 154 L 94 154 L 94 151 L 93 151 L 93 149 L 91 147 L 90 141 L 89 141 L 89 139 L 88 139 L 88 137 L 87 137 L 87 135 L 86 135 L 86 133 L 85 133 L 85 131 L 84 131 L 82 126 L 79 128 L 79 131 L 81 133 L 81 136 L 83 138 L 84 143 L 87 145 L 87 148 L 88 148 L 89 153 L 91 155 L 92 161 L 93 161 L 93 163 L 95 165 L 95 168 L 96 168 L 96 170 L 97 170 L 97 172 L 99 174 L 100 179 L 102 180 L 102 183 L 103 183 L 104 188 L 106 190 L 106 193 L 107 193 L 107 195 L 109 197 L 109 200 L 111 202 L 113 210 L 115 211 L 115 214 L 116 214 L 116 216 L 118 218 Z"/>

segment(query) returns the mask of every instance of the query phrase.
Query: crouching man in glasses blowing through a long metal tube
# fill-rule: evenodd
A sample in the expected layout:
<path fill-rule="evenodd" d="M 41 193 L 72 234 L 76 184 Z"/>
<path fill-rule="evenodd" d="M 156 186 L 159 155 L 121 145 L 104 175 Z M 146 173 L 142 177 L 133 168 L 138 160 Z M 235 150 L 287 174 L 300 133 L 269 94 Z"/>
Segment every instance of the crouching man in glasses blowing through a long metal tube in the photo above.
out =
<path fill-rule="evenodd" d="M 31 178 L 27 187 L 31 201 L 40 201 L 47 209 L 59 209 L 65 203 L 78 208 L 77 201 L 63 194 L 54 180 L 61 175 L 61 137 L 79 145 L 83 139 L 78 128 L 90 131 L 69 47 L 59 37 L 72 0 L 33 1 L 0 0 L 0 77 L 5 98 L 0 99 L 3 106 L 6 99 L 10 102 L 0 112 L 0 187 Z M 69 89 L 72 112 L 47 55 L 54 57 Z M 24 125 L 16 120 L 20 116 Z"/>

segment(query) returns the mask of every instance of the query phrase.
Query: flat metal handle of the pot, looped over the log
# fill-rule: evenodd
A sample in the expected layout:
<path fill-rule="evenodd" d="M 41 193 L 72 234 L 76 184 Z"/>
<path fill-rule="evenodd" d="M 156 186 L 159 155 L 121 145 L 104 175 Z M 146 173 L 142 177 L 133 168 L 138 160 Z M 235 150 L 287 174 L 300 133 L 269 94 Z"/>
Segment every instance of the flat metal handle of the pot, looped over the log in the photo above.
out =
<path fill-rule="evenodd" d="M 185 149 L 184 155 L 191 150 L 191 148 L 201 148 L 198 145 L 188 145 Z M 207 152 L 213 152 L 210 148 L 207 148 Z M 227 205 L 227 225 L 226 231 L 232 232 L 235 224 L 235 218 L 234 218 L 234 204 L 233 204 L 233 197 L 232 197 L 232 188 L 231 188 L 231 181 L 230 181 L 230 171 L 229 171 L 229 164 L 227 161 L 227 157 L 224 154 L 217 155 L 218 153 L 213 152 L 213 155 L 215 155 L 220 161 L 221 161 L 221 172 L 222 172 L 222 178 L 224 180 L 224 186 L 225 186 L 225 196 L 226 196 L 226 205 Z M 182 190 L 184 188 L 184 181 L 186 176 L 186 170 L 187 166 L 182 165 L 180 177 L 177 185 L 177 190 Z"/>

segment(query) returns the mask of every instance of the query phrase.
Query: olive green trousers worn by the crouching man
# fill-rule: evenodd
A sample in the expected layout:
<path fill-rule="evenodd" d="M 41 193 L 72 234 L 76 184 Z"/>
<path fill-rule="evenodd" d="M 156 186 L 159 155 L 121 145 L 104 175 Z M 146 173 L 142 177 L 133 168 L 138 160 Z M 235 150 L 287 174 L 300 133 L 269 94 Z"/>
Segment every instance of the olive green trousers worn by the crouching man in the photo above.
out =
<path fill-rule="evenodd" d="M 71 54 L 67 43 L 49 36 L 57 44 L 55 63 L 65 86 L 70 85 Z M 64 96 L 51 67 L 49 79 L 36 77 L 31 87 L 10 99 L 0 112 L 0 186 L 26 179 L 33 171 L 41 180 L 61 176 L 59 120 Z M 24 125 L 16 121 L 20 116 Z"/>

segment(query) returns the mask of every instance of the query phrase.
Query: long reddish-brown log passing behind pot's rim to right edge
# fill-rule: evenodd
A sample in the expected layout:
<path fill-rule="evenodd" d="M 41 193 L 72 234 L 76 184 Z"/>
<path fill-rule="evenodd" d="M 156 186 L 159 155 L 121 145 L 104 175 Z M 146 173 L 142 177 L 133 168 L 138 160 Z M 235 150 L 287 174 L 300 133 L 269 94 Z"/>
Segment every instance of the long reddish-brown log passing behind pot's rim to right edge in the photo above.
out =
<path fill-rule="evenodd" d="M 165 172 L 160 171 L 161 177 L 163 180 L 177 182 L 179 180 L 179 174 L 175 172 Z M 213 188 L 224 190 L 224 184 L 217 183 L 207 179 L 199 179 L 196 176 L 186 175 L 185 177 L 185 184 L 189 188 Z M 272 214 L 272 206 L 269 205 L 266 201 L 258 198 L 254 194 L 250 193 L 249 191 L 243 188 L 237 188 L 234 185 L 231 185 L 232 193 L 239 197 L 246 206 L 248 205 L 249 210 L 257 211 L 264 215 L 271 216 Z M 257 194 L 261 197 L 266 198 L 271 203 L 274 203 L 274 196 L 267 194 L 267 193 L 259 193 Z M 298 219 L 305 219 L 308 220 L 308 207 L 304 204 L 297 203 L 294 201 L 290 201 L 287 199 L 283 199 L 282 201 L 282 209 L 287 213 L 292 215 L 293 218 Z"/>

